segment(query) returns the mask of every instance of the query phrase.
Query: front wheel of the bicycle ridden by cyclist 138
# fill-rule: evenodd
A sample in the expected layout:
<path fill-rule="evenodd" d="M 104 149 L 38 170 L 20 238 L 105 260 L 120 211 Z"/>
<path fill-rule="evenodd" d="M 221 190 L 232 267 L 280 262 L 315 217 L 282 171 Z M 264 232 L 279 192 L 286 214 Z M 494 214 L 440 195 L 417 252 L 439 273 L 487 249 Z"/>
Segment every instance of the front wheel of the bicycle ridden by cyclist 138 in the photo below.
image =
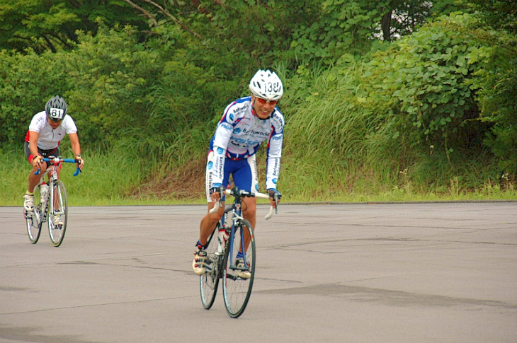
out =
<path fill-rule="evenodd" d="M 246 240 L 249 243 L 244 248 Z M 244 267 L 237 264 L 239 251 L 244 251 Z M 248 304 L 255 277 L 255 239 L 253 228 L 246 219 L 237 223 L 233 237 L 229 238 L 224 264 L 226 268 L 222 273 L 222 295 L 227 313 L 230 317 L 237 318 Z"/>

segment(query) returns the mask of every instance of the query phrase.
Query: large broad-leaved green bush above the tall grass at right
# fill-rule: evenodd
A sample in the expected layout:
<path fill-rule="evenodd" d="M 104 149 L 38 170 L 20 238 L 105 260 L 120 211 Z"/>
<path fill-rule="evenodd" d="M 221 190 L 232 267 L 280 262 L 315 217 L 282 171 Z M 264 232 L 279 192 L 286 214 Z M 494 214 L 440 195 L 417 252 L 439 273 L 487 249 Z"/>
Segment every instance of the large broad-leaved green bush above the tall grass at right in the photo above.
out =
<path fill-rule="evenodd" d="M 481 146 L 487 127 L 479 124 L 476 73 L 492 49 L 461 33 L 470 18 L 442 17 L 374 55 L 364 100 L 392 124 L 394 141 L 407 137 L 411 147 L 427 153 Z"/>

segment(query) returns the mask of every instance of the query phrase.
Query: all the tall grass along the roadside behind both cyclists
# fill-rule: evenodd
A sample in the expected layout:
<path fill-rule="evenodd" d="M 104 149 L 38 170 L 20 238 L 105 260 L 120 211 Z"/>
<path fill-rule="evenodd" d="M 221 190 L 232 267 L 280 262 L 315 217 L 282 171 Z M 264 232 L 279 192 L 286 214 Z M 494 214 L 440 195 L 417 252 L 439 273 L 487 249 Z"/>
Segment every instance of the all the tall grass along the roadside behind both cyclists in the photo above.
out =
<path fill-rule="evenodd" d="M 353 64 L 300 69 L 288 77 L 288 92 L 280 102 L 285 137 L 278 189 L 284 202 L 517 199 L 515 182 L 497 174 L 496 161 L 487 152 L 466 151 L 451 158 L 414 149 L 404 132 L 392 127 L 392 114 L 363 105 L 362 74 L 363 66 Z M 70 206 L 203 202 L 202 192 L 199 199 L 186 200 L 176 199 L 174 190 L 137 192 L 142 184 L 157 185 L 154 180 L 170 175 L 188 178 L 192 174 L 175 173 L 204 165 L 221 115 L 178 115 L 182 110 L 166 89 L 155 91 L 147 124 L 125 129 L 113 146 L 82 146 L 83 175 L 74 178 L 73 166 L 63 166 Z M 64 157 L 72 156 L 67 141 L 61 146 Z M 261 190 L 265 151 L 263 146 L 257 158 Z M 30 165 L 22 148 L 0 149 L 0 158 L 0 206 L 21 206 Z"/>

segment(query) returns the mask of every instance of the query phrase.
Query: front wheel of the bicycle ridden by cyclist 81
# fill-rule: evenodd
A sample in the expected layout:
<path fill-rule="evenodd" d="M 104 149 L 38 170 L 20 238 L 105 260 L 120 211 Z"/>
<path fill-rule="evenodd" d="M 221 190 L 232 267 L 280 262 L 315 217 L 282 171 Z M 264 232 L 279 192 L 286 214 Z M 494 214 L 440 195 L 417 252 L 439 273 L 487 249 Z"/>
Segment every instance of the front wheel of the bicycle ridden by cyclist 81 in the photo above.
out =
<path fill-rule="evenodd" d="M 52 245 L 59 247 L 63 243 L 64 233 L 67 231 L 68 199 L 67 190 L 61 180 L 54 180 L 49 194 L 48 233 Z"/>

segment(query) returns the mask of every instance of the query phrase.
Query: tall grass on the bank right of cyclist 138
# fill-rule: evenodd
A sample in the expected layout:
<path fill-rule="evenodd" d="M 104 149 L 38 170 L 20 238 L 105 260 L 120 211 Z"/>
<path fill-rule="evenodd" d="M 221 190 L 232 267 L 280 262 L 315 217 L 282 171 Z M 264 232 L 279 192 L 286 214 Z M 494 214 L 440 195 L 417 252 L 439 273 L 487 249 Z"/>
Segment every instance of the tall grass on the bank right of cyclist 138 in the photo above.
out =
<path fill-rule="evenodd" d="M 422 199 L 516 198 L 511 182 L 501 193 L 484 191 L 499 184 L 488 154 L 450 156 L 422 152 L 394 127 L 392 113 L 363 105 L 363 67 L 307 74 L 295 83 L 305 102 L 285 112 L 280 188 L 293 201 L 401 201 Z M 290 100 L 290 98 L 288 98 Z M 407 128 L 411 130 L 411 126 Z M 296 195 L 294 195 L 296 194 Z M 492 198 L 493 199 L 493 198 Z"/>

